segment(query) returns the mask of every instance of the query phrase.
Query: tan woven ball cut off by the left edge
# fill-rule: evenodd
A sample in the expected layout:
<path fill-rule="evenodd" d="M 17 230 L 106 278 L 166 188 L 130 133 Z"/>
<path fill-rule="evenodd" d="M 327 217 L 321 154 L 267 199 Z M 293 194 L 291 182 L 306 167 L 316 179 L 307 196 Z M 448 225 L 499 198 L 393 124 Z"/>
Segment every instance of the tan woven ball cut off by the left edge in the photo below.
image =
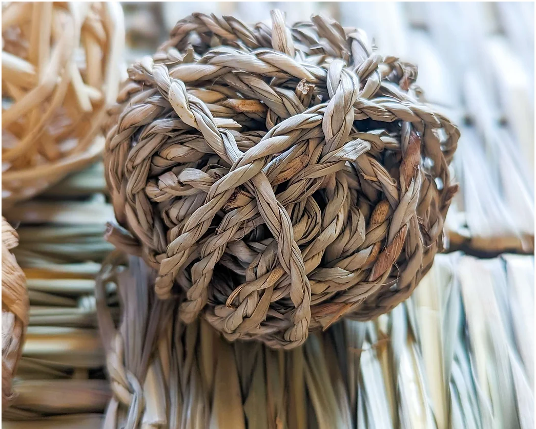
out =
<path fill-rule="evenodd" d="M 19 236 L 2 217 L 2 408 L 13 399 L 12 381 L 23 352 L 28 326 L 26 277 L 10 250 L 19 244 Z"/>

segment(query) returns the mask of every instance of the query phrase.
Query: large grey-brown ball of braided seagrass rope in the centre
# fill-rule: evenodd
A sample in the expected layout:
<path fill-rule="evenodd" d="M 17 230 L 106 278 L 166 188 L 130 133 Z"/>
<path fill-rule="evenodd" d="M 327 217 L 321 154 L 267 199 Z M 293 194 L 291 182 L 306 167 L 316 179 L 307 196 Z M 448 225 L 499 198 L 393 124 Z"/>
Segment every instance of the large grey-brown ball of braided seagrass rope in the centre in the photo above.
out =
<path fill-rule="evenodd" d="M 107 179 L 184 321 L 292 348 L 389 311 L 442 249 L 458 129 L 361 31 L 194 14 L 129 76 Z"/>

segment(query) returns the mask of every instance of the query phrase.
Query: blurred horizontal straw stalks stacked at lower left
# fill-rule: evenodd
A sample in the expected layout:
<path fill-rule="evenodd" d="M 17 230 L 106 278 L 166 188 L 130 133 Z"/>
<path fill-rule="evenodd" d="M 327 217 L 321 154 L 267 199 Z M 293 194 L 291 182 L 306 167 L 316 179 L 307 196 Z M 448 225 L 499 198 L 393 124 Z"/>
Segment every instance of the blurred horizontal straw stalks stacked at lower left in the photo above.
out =
<path fill-rule="evenodd" d="M 4 427 L 100 426 L 110 398 L 94 297 L 94 277 L 111 250 L 103 238 L 113 218 L 105 192 L 96 164 L 4 213 L 17 225 L 19 246 L 12 251 L 30 304 Z"/>

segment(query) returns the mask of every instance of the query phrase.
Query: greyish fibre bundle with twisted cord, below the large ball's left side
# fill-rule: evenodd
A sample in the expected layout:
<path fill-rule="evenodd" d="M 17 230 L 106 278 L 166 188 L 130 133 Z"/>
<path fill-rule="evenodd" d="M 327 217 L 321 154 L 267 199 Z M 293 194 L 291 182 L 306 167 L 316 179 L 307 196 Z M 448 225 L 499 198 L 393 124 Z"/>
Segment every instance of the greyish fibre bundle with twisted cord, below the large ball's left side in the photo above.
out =
<path fill-rule="evenodd" d="M 125 262 L 124 253 L 110 253 L 95 283 L 99 330 L 113 392 L 102 425 L 105 429 L 160 426 L 162 419 L 152 421 L 154 408 L 161 409 L 166 403 L 158 397 L 163 396 L 166 381 L 161 366 L 154 364 L 153 352 L 167 329 L 174 303 L 155 297 L 150 287 L 154 270 L 142 259 L 130 257 L 128 268 Z M 120 323 L 115 323 L 107 302 L 107 285 L 113 283 L 121 304 Z"/>

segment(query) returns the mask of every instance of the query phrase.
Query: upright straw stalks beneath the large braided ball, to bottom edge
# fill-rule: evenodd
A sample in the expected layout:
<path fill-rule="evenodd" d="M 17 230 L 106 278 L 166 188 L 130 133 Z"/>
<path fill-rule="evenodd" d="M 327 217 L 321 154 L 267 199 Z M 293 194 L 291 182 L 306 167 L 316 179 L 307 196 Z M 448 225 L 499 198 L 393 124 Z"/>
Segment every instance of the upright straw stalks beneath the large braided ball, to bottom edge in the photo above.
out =
<path fill-rule="evenodd" d="M 143 261 L 115 266 L 121 259 L 113 255 L 97 282 L 114 392 L 107 429 L 534 425 L 532 256 L 438 255 L 389 314 L 346 319 L 292 351 L 227 343 L 204 321 L 184 325 L 178 306 L 149 287 L 155 274 Z M 123 308 L 118 326 L 99 303 L 109 282 Z"/>

